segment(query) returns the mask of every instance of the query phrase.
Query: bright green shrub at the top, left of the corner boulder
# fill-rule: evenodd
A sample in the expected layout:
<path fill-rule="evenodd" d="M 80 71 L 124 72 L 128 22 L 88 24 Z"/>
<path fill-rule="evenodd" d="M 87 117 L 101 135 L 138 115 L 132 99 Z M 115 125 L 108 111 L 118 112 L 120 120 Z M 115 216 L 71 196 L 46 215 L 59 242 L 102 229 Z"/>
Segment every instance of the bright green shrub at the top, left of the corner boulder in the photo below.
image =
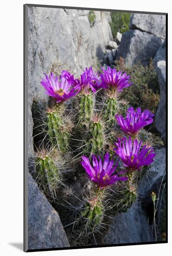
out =
<path fill-rule="evenodd" d="M 111 12 L 112 22 L 110 22 L 110 27 L 114 38 L 117 32 L 122 34 L 129 30 L 130 15 L 131 13 Z"/>

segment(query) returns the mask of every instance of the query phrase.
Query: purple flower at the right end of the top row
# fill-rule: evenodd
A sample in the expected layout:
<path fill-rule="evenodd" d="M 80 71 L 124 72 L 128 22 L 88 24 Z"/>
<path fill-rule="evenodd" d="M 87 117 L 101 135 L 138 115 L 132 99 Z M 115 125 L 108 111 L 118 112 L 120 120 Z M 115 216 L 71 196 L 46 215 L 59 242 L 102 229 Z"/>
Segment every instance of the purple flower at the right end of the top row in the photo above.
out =
<path fill-rule="evenodd" d="M 117 71 L 115 68 L 108 70 L 102 68 L 101 83 L 99 88 L 109 89 L 113 88 L 116 92 L 121 92 L 124 88 L 129 87 L 132 82 L 130 82 L 130 76 L 126 73 L 122 74 L 121 71 Z"/>

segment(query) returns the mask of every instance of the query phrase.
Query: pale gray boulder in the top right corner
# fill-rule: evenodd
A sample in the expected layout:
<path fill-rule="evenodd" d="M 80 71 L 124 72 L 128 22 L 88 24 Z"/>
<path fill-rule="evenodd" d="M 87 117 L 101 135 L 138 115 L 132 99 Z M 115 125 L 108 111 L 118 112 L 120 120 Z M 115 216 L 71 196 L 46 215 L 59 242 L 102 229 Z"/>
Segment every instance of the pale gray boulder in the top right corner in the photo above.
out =
<path fill-rule="evenodd" d="M 134 13 L 131 15 L 130 29 L 138 29 L 165 39 L 166 15 Z"/>

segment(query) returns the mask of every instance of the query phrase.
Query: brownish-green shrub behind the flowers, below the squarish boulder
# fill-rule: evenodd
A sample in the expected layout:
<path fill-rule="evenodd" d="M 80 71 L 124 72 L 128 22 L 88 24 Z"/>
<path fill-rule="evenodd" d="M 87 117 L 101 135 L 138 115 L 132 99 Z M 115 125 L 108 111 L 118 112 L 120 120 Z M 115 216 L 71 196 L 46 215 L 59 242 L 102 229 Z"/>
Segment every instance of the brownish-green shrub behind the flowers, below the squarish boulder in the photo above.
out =
<path fill-rule="evenodd" d="M 155 114 L 159 103 L 159 83 L 152 61 L 146 67 L 140 62 L 133 67 L 127 67 L 124 59 L 120 58 L 116 65 L 118 70 L 130 75 L 133 82 L 132 86 L 123 91 L 123 98 L 134 108 L 148 108 Z"/>

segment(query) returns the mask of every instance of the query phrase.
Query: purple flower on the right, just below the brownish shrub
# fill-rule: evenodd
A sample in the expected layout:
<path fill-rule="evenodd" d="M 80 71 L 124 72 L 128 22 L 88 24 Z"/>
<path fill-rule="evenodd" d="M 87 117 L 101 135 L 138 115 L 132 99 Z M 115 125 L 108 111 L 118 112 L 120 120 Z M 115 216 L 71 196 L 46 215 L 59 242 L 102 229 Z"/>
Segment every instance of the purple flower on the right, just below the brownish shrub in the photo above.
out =
<path fill-rule="evenodd" d="M 141 112 L 141 108 L 134 111 L 133 107 L 127 109 L 126 119 L 122 115 L 115 115 L 121 130 L 129 135 L 136 135 L 141 128 L 153 122 L 154 115 L 149 110 Z"/>

